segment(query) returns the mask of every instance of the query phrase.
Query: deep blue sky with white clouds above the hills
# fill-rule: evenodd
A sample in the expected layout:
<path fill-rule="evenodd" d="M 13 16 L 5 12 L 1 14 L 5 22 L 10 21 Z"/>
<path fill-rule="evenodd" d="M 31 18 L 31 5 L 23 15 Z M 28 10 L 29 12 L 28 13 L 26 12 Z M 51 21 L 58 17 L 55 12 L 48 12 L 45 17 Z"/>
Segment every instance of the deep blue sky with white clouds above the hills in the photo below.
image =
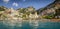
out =
<path fill-rule="evenodd" d="M 0 6 L 7 8 L 27 8 L 33 6 L 35 9 L 39 9 L 54 2 L 54 0 L 0 0 Z"/>

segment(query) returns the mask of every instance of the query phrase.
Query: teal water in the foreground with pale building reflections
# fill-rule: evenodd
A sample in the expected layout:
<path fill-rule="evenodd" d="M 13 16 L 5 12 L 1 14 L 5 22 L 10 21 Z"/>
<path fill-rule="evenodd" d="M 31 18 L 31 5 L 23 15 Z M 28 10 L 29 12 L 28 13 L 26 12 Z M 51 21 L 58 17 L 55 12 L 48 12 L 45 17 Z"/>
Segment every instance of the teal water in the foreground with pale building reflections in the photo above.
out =
<path fill-rule="evenodd" d="M 15 23 L 14 26 L 6 24 L 0 22 L 0 29 L 60 29 L 60 22 L 22 21 Z"/>

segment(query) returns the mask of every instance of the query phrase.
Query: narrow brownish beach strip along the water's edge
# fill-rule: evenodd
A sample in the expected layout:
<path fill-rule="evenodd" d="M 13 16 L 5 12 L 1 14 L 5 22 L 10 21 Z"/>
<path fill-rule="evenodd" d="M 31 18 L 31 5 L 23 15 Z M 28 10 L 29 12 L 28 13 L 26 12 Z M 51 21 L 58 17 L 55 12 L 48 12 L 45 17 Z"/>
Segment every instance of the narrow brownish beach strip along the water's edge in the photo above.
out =
<path fill-rule="evenodd" d="M 11 19 L 11 20 L 13 20 L 13 19 Z M 0 20 L 0 21 L 4 21 L 4 20 Z M 19 20 L 17 20 L 17 21 L 19 21 Z M 23 19 L 20 21 L 60 22 L 60 19 Z"/>

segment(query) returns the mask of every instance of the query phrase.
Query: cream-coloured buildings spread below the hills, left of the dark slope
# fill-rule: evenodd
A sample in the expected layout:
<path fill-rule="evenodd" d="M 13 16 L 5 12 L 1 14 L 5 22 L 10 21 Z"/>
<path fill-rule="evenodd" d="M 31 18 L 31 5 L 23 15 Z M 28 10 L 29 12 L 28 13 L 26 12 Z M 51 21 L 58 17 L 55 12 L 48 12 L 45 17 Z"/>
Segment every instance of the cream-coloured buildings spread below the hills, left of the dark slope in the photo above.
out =
<path fill-rule="evenodd" d="M 22 8 L 23 9 L 23 8 Z M 36 11 L 32 13 L 34 10 L 33 7 L 28 7 L 27 12 L 30 12 L 29 15 L 26 13 L 20 13 L 19 10 L 14 10 L 13 8 L 6 9 L 5 11 L 2 11 L 1 13 L 6 16 L 8 19 L 17 19 L 17 20 L 23 20 L 23 19 L 36 19 L 39 18 L 39 15 Z M 2 16 L 1 16 L 2 17 Z M 3 18 L 3 17 L 2 17 Z"/>

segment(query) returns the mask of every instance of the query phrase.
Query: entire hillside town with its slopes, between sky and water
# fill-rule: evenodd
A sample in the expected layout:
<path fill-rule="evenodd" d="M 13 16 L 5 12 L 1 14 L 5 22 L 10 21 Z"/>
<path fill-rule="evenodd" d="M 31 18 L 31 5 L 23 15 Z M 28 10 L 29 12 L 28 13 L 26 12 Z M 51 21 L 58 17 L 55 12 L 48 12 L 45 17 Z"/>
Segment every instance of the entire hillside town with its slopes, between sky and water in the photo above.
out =
<path fill-rule="evenodd" d="M 0 20 L 3 19 L 60 19 L 60 1 L 54 1 L 53 3 L 39 10 L 35 10 L 33 6 L 19 8 L 17 10 L 0 6 Z"/>

